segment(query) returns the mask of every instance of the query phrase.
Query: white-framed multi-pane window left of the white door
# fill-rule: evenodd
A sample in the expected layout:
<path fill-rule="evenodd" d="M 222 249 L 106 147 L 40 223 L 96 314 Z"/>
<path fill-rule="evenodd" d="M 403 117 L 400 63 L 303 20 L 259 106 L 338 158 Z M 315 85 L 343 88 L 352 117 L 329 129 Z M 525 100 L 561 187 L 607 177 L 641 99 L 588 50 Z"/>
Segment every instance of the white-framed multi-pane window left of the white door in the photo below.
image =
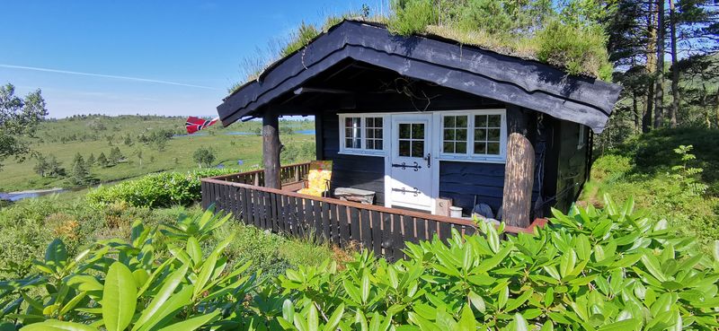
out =
<path fill-rule="evenodd" d="M 340 152 L 384 155 L 385 125 L 381 115 L 341 114 Z"/>

